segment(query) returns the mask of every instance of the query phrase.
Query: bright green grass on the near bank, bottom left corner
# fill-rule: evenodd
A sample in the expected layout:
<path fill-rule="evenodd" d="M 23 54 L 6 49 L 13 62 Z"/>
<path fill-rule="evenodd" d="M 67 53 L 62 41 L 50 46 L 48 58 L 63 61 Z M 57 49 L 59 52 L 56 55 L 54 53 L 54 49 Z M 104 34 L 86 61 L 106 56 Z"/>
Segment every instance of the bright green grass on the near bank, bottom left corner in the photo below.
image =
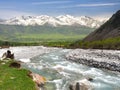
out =
<path fill-rule="evenodd" d="M 9 61 L 0 61 L 0 90 L 36 90 L 35 83 L 27 76 L 28 70 L 10 68 Z"/>

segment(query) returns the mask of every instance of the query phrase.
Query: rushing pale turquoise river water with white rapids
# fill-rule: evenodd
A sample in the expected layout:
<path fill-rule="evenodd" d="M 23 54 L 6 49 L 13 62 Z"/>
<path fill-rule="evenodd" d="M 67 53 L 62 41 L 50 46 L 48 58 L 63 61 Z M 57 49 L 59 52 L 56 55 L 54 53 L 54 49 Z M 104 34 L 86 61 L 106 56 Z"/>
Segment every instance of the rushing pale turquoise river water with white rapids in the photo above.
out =
<path fill-rule="evenodd" d="M 19 52 L 20 49 L 12 48 L 11 50 Z M 120 90 L 120 73 L 88 67 L 66 60 L 65 55 L 70 51 L 72 50 L 50 49 L 49 52 L 40 55 L 35 51 L 37 55 L 27 60 L 28 62 L 25 62 L 23 67 L 46 77 L 45 90 L 69 90 L 70 84 L 88 77 L 93 78 L 90 85 L 94 90 Z M 32 53 L 32 51 L 30 52 Z M 33 54 L 35 53 L 31 55 Z M 30 54 L 26 55 L 29 56 Z"/>

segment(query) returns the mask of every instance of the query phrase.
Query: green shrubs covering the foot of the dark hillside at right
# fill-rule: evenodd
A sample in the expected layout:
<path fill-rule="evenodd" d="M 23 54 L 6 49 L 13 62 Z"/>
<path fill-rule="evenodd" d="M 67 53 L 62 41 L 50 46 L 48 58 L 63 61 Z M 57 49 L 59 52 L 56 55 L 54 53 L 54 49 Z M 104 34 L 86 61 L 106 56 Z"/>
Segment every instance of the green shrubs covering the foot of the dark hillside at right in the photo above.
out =
<path fill-rule="evenodd" d="M 118 49 L 120 50 L 120 37 L 108 38 L 99 41 L 83 42 L 77 41 L 70 45 L 71 48 L 84 49 Z"/>

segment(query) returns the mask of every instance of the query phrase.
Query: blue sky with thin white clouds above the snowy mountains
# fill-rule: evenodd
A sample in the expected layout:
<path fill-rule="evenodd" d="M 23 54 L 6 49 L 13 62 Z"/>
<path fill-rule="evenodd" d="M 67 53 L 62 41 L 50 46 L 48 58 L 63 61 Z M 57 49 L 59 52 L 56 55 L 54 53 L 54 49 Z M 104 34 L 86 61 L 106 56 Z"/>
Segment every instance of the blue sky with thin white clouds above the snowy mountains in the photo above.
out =
<path fill-rule="evenodd" d="M 120 10 L 120 0 L 0 0 L 0 18 L 22 15 L 73 15 L 106 19 Z"/>

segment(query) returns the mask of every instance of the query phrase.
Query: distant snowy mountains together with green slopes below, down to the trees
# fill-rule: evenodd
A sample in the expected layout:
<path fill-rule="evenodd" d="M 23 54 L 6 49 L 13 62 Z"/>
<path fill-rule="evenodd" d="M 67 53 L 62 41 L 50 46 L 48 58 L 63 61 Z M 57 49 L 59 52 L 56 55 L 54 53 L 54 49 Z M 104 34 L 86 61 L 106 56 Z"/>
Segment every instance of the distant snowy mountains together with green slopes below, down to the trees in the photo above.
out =
<path fill-rule="evenodd" d="M 87 16 L 19 16 L 0 20 L 0 41 L 40 43 L 81 40 L 104 21 Z"/>

